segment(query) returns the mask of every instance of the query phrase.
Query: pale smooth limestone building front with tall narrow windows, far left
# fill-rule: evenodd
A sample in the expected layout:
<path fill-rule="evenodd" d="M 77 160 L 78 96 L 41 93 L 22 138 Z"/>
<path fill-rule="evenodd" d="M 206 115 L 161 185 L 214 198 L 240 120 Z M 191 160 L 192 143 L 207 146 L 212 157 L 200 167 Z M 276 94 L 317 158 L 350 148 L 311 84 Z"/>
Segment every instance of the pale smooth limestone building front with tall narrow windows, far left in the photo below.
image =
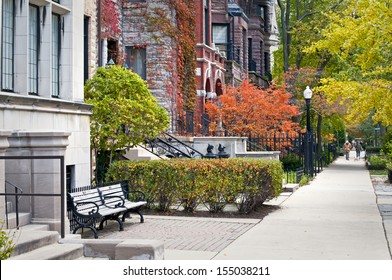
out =
<path fill-rule="evenodd" d="M 2 160 L 2 193 L 18 186 L 24 193 L 58 194 L 61 173 L 69 188 L 91 183 L 91 106 L 84 103 L 83 92 L 84 4 L 0 1 L 0 155 L 65 157 L 64 170 L 58 160 Z M 93 14 L 94 7 L 89 9 Z M 3 219 L 4 196 L 0 199 Z M 58 230 L 59 202 L 59 197 L 24 197 L 21 210 L 31 214 L 31 222 Z"/>

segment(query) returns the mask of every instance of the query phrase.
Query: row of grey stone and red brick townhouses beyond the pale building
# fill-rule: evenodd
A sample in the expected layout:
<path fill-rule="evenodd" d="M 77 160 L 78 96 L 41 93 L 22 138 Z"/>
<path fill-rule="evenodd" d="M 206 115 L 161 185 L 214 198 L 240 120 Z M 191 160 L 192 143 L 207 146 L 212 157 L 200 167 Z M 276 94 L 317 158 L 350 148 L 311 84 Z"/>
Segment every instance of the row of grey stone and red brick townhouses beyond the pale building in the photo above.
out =
<path fill-rule="evenodd" d="M 175 43 L 146 20 L 146 14 L 161 9 L 175 23 L 175 11 L 159 0 L 112 3 L 118 3 L 121 34 L 113 38 L 98 34 L 98 46 L 102 48 L 99 61 L 105 65 L 112 59 L 145 79 L 171 116 L 171 132 L 207 134 L 205 104 L 223 94 L 224 85 L 235 86 L 251 79 L 268 87 L 272 79 L 271 53 L 278 42 L 275 0 L 194 0 L 197 88 L 191 94 L 196 97 L 196 106 L 185 112 L 185 119 L 177 112 Z"/>

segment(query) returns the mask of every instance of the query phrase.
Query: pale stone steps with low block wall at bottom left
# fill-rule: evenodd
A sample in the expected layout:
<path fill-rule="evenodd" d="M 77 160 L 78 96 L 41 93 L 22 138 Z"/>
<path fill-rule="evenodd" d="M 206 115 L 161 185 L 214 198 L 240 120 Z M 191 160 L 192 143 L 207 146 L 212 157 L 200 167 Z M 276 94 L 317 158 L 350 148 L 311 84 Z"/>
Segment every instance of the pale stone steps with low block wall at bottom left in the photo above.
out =
<path fill-rule="evenodd" d="M 47 225 L 26 225 L 7 230 L 15 248 L 9 260 L 163 260 L 164 244 L 147 239 L 82 239 L 67 234 L 61 239 Z"/>

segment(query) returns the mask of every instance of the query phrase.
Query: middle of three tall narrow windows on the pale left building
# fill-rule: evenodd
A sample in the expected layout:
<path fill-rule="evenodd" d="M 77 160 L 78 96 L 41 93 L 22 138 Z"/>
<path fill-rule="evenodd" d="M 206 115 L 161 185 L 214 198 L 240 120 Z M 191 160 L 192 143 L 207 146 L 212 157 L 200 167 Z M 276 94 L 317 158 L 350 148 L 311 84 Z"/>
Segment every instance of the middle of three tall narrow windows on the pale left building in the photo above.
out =
<path fill-rule="evenodd" d="M 29 6 L 29 69 L 30 94 L 38 94 L 39 9 Z"/>

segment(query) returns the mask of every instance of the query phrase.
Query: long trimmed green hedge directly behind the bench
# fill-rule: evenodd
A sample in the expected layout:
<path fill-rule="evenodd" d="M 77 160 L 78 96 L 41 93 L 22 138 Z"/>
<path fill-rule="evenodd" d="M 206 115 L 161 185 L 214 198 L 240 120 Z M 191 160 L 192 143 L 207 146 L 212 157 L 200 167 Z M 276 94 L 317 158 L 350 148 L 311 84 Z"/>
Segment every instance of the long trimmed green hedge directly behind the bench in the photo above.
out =
<path fill-rule="evenodd" d="M 280 194 L 282 177 L 282 165 L 276 160 L 171 159 L 117 161 L 107 180 L 128 180 L 146 194 L 148 207 L 160 211 L 176 205 L 195 211 L 204 204 L 219 212 L 235 204 L 239 212 L 249 213 Z"/>

